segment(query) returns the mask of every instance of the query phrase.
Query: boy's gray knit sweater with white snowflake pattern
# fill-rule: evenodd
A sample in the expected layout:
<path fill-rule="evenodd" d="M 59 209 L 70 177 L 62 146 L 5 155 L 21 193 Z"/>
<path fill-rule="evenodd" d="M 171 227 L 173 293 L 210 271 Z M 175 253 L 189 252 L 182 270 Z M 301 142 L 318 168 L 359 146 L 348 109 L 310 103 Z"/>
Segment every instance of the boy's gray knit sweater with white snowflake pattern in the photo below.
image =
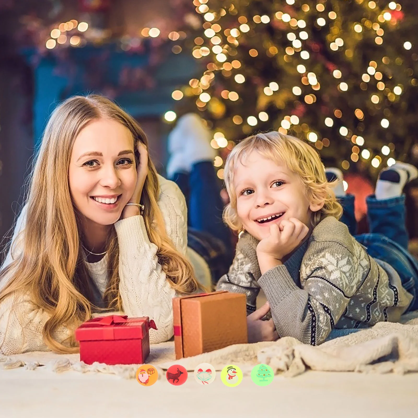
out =
<path fill-rule="evenodd" d="M 217 290 L 245 293 L 250 314 L 262 288 L 279 336 L 321 344 L 333 328 L 396 322 L 412 300 L 398 273 L 370 257 L 334 217 L 323 219 L 283 265 L 263 275 L 257 244 L 247 232 L 241 235 L 234 261 Z"/>

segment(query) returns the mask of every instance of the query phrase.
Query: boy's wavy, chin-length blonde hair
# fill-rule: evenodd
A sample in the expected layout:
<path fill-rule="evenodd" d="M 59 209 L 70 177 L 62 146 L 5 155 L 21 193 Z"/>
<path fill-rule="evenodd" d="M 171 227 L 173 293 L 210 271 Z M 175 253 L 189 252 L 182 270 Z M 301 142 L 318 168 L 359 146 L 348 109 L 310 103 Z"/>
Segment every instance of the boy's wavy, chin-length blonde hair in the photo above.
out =
<path fill-rule="evenodd" d="M 298 138 L 273 131 L 245 138 L 228 155 L 224 179 L 230 202 L 224 209 L 224 222 L 231 229 L 238 232 L 242 230 L 242 223 L 237 214 L 237 195 L 234 190 L 235 168 L 237 163 L 241 163 L 253 150 L 276 163 L 285 163 L 289 170 L 298 174 L 310 201 L 324 201 L 322 209 L 313 214 L 312 227 L 327 216 L 336 219 L 341 217 L 342 206 L 332 191 L 333 183 L 326 181 L 324 165 L 318 153 Z"/>

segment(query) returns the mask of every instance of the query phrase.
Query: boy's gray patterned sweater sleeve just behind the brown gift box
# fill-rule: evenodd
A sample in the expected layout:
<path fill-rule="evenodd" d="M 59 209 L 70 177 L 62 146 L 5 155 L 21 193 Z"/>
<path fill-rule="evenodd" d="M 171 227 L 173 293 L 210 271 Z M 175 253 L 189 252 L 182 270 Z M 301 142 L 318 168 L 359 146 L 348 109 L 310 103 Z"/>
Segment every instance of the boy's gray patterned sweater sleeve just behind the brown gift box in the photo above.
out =
<path fill-rule="evenodd" d="M 216 286 L 218 291 L 245 293 L 247 296 L 247 315 L 255 311 L 257 295 L 260 292 L 260 286 L 251 271 L 251 267 L 249 258 L 238 247 L 228 273 L 219 279 Z"/>

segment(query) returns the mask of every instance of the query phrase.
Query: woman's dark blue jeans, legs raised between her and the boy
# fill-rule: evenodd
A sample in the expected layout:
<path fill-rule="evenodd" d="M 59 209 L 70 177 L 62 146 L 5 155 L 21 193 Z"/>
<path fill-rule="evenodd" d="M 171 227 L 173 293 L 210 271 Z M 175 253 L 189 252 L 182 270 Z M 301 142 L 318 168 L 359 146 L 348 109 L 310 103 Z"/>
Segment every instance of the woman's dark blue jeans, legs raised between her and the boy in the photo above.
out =
<path fill-rule="evenodd" d="M 227 273 L 234 257 L 232 235 L 222 220 L 224 204 L 212 161 L 201 161 L 175 181 L 187 204 L 188 245 L 209 265 L 214 283 Z"/>

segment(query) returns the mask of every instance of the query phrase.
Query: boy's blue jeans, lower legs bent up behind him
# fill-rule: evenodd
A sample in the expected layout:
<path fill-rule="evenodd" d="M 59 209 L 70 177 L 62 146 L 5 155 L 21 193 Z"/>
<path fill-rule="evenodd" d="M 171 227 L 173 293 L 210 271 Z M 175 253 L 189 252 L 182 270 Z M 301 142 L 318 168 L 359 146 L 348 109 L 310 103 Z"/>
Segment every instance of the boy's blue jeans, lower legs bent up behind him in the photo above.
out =
<path fill-rule="evenodd" d="M 377 200 L 375 196 L 367 197 L 370 232 L 361 235 L 355 235 L 357 224 L 354 217 L 354 196 L 348 194 L 339 198 L 339 202 L 344 209 L 340 220 L 347 225 L 350 234 L 367 248 L 367 254 L 390 264 L 399 274 L 403 288 L 413 296 L 406 311 L 418 309 L 418 261 L 408 252 L 405 196 L 385 200 Z M 333 329 L 327 341 L 357 331 L 360 329 Z"/>

